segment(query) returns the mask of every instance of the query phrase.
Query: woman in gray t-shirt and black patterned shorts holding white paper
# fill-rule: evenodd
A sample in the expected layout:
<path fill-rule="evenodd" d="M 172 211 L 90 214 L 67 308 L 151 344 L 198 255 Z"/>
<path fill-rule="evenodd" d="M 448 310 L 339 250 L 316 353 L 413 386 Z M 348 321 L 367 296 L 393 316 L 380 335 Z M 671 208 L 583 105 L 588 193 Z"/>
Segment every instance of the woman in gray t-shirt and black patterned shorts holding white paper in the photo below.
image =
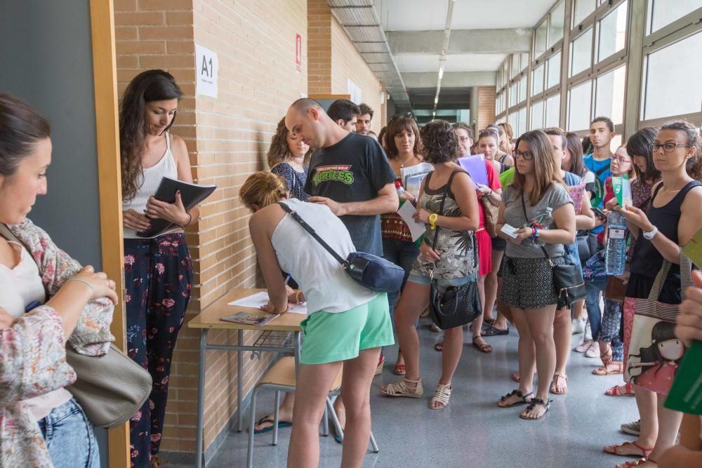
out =
<path fill-rule="evenodd" d="M 548 392 L 556 366 L 553 321 L 558 297 L 552 265 L 561 265 L 563 244 L 575 240 L 573 201 L 556 167 L 553 149 L 543 131 L 530 131 L 517 139 L 515 179 L 505 187 L 498 229 L 507 240 L 502 268 L 501 299 L 512 311 L 519 329 L 519 388 L 498 401 L 501 408 L 527 404 L 519 417 L 537 420 L 549 408 Z M 551 213 L 548 225 L 534 218 Z M 514 229 L 512 235 L 506 230 Z M 538 389 L 533 392 L 534 360 Z M 534 396 L 533 396 L 534 395 Z M 533 397 L 532 397 L 533 396 Z"/>

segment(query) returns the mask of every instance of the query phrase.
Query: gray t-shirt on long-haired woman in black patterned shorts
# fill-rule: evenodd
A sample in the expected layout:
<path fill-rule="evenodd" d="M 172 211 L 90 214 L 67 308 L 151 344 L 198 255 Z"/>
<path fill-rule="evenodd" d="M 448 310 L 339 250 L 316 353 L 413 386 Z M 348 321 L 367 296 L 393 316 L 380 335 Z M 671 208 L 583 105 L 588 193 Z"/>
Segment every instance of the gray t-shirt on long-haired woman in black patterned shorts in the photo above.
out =
<path fill-rule="evenodd" d="M 558 183 L 551 185 L 551 188 L 548 189 L 535 206 L 529 204 L 528 194 L 524 193 L 522 196 L 527 206 L 527 219 L 524 219 L 522 200 L 519 199 L 519 193 L 517 193 L 515 188 L 509 185 L 502 194 L 502 199 L 505 201 L 505 222 L 512 227 L 522 227 L 527 220 L 546 213 L 546 208 L 548 207 L 555 212 L 564 204 L 573 203 L 568 190 Z M 548 229 L 555 228 L 555 222 L 548 226 Z M 547 243 L 544 247 L 551 257 L 561 257 L 563 255 L 564 250 L 561 243 Z M 541 247 L 535 246 L 531 239 L 524 239 L 519 245 L 508 242 L 505 255 L 512 258 L 545 258 Z"/>

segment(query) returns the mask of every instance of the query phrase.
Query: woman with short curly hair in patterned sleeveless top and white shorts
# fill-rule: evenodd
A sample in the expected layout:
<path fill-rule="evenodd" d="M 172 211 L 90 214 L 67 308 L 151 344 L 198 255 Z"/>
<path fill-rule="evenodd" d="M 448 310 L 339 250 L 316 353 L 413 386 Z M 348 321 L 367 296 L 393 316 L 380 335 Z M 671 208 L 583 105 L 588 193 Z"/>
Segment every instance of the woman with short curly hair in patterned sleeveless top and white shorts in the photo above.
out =
<path fill-rule="evenodd" d="M 422 182 L 415 219 L 427 226 L 419 256 L 414 262 L 395 311 L 395 327 L 404 354 L 406 374 L 402 380 L 383 385 L 388 396 L 420 398 L 424 394 L 419 375 L 419 337 L 415 327 L 419 314 L 429 305 L 430 270 L 438 279 L 439 290 L 463 286 L 477 277 L 477 251 L 473 232 L 478 229 L 478 199 L 470 175 L 456 164 L 458 137 L 451 124 L 443 120 L 427 123 L 420 131 L 425 160 L 434 165 Z M 443 214 L 439 205 L 448 189 Z M 438 233 L 438 234 L 437 234 Z M 434 237 L 436 249 L 432 248 Z M 448 328 L 444 335 L 442 375 L 429 408 L 438 410 L 449 404 L 451 380 L 463 350 L 463 327 Z"/>

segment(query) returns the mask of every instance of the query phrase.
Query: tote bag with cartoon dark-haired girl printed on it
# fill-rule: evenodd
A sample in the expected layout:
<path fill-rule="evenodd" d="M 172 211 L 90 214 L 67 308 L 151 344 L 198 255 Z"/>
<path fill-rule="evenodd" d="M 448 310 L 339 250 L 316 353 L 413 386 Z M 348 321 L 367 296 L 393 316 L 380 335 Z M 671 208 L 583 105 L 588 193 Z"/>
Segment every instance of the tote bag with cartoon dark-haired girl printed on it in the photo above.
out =
<path fill-rule="evenodd" d="M 692 284 L 692 263 L 680 250 L 680 295 Z M 675 337 L 675 321 L 680 304 L 665 304 L 658 300 L 670 262 L 663 260 L 654 286 L 647 299 L 626 297 L 624 300 L 624 381 L 650 392 L 668 394 L 675 373 L 684 356 L 684 347 Z M 661 343 L 668 342 L 661 356 Z M 680 347 L 680 348 L 677 348 Z M 670 354 L 680 353 L 677 359 Z"/>

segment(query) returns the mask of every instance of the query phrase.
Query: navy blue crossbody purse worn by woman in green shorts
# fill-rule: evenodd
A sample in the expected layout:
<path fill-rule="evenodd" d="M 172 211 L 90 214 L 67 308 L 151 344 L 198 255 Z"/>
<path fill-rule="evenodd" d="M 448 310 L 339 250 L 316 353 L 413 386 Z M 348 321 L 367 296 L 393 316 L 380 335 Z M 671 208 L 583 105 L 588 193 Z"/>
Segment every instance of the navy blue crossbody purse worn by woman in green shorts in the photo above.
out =
<path fill-rule="evenodd" d="M 295 210 L 282 201 L 279 201 L 278 204 L 291 215 L 293 220 L 300 223 L 300 226 L 310 233 L 310 236 L 314 237 L 315 241 L 322 244 L 322 247 L 331 253 L 331 256 L 341 264 L 347 274 L 361 286 L 379 293 L 395 293 L 402 288 L 402 281 L 404 280 L 404 269 L 402 267 L 385 260 L 385 258 L 378 257 L 378 255 L 365 252 L 352 252 L 344 260 L 328 243 L 319 237 L 319 234 L 303 218 L 300 218 L 300 215 Z"/>

